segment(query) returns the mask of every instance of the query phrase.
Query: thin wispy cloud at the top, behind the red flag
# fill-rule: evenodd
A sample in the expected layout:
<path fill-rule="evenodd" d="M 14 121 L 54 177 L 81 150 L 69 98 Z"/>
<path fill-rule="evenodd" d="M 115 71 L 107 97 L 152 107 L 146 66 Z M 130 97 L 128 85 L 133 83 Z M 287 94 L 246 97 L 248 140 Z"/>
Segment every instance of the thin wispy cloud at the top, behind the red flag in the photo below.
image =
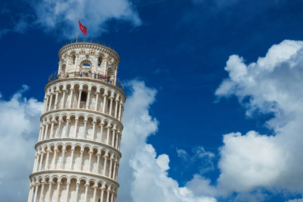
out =
<path fill-rule="evenodd" d="M 130 0 L 35 0 L 28 3 L 28 9 L 18 15 L 6 12 L 13 18 L 13 27 L 0 33 L 23 32 L 38 26 L 46 33 L 59 33 L 60 38 L 75 38 L 79 17 L 88 28 L 88 36 L 95 37 L 107 32 L 109 20 L 128 22 L 133 27 L 142 23 Z"/>

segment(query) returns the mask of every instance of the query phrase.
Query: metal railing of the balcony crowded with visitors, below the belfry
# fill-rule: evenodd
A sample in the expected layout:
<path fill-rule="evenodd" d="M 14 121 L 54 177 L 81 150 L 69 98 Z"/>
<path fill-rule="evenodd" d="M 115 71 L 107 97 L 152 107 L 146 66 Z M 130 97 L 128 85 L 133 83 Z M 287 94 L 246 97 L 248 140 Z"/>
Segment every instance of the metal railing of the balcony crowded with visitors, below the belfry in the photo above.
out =
<path fill-rule="evenodd" d="M 108 84 L 111 84 L 113 86 L 118 87 L 122 91 L 124 91 L 124 86 L 122 82 L 117 78 L 116 81 L 109 79 L 108 77 L 101 78 L 101 75 L 95 74 L 95 73 L 86 73 L 86 72 L 72 72 L 72 73 L 62 73 L 58 74 L 57 71 L 50 74 L 48 83 L 55 81 L 57 79 L 63 79 L 63 78 L 91 78 L 96 80 L 101 80 L 104 82 L 107 82 Z"/>

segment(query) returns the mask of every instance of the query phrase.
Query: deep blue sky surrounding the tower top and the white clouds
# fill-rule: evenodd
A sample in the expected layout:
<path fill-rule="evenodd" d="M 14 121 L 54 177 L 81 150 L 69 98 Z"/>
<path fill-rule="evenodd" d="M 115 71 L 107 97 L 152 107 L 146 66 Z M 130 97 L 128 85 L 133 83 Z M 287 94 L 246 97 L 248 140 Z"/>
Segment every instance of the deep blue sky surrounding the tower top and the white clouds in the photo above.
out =
<path fill-rule="evenodd" d="M 233 189 L 226 189 L 224 186 L 220 187 L 218 182 L 226 184 L 228 180 L 239 180 L 233 179 L 232 176 L 228 180 L 220 178 L 220 173 L 228 170 L 224 167 L 227 165 L 223 163 L 224 156 L 229 153 L 226 152 L 229 143 L 225 134 L 240 132 L 243 137 L 249 137 L 246 133 L 251 130 L 264 134 L 252 136 L 257 137 L 255 141 L 252 140 L 252 143 L 256 144 L 252 146 L 254 148 L 260 145 L 257 144 L 258 138 L 261 138 L 262 143 L 271 141 L 274 137 L 272 139 L 267 137 L 276 136 L 277 131 L 289 123 L 281 123 L 282 119 L 286 120 L 285 117 L 291 114 L 288 109 L 283 108 L 285 103 L 279 103 L 279 100 L 274 98 L 266 100 L 264 95 L 268 95 L 268 92 L 264 94 L 261 92 L 267 84 L 269 86 L 269 83 L 275 80 L 274 78 L 280 82 L 276 83 L 276 86 L 278 84 L 287 86 L 288 83 L 283 82 L 292 80 L 293 77 L 286 74 L 285 78 L 283 74 L 281 77 L 275 77 L 276 74 L 264 73 L 262 76 L 252 77 L 255 80 L 260 79 L 258 80 L 260 83 L 267 80 L 269 83 L 265 83 L 264 86 L 248 86 L 232 74 L 241 72 L 243 70 L 241 65 L 246 64 L 247 68 L 251 69 L 248 72 L 254 75 L 253 69 L 257 70 L 258 67 L 249 67 L 249 64 L 256 62 L 259 57 L 264 57 L 275 44 L 280 47 L 273 51 L 277 55 L 284 55 L 283 51 L 291 49 L 288 46 L 297 47 L 293 43 L 287 42 L 287 45 L 281 43 L 286 39 L 296 43 L 297 40 L 302 40 L 302 1 L 114 0 L 109 3 L 90 0 L 85 3 L 86 5 L 82 5 L 80 1 L 68 4 L 69 0 L 51 2 L 61 3 L 62 6 L 53 8 L 53 4 L 47 1 L 2 1 L 1 102 L 9 101 L 24 84 L 30 89 L 23 93 L 23 97 L 43 101 L 48 77 L 57 70 L 58 50 L 64 41 L 75 38 L 76 18 L 73 16 L 79 13 L 81 23 L 87 26 L 86 38 L 110 43 L 120 55 L 118 78 L 128 83 L 126 94 L 130 97 L 134 94 L 134 80 L 143 81 L 143 89 L 148 88 L 156 92 L 146 108 L 149 115 L 156 118 L 157 129 L 154 135 L 151 135 L 151 132 L 147 136 L 146 143 L 153 146 L 157 155 L 165 153 L 169 156 L 170 169 L 167 170 L 167 176 L 178 182 L 179 187 L 191 188 L 189 182 L 194 183 L 193 176 L 198 174 L 209 179 L 208 188 L 216 189 L 213 191 L 215 194 L 205 192 L 204 195 L 214 197 L 218 202 L 237 200 L 287 202 L 293 199 L 300 202 L 303 181 L 296 185 L 290 183 L 290 186 L 283 186 L 283 179 L 279 178 L 285 174 L 283 170 L 275 175 L 274 179 L 258 181 L 242 191 L 238 189 L 241 183 L 231 186 Z M 96 2 L 100 9 L 94 8 Z M 63 4 L 69 8 L 65 8 Z M 83 37 L 82 33 L 79 37 Z M 299 45 L 301 46 L 300 43 Z M 298 48 L 298 52 L 301 49 Z M 295 55 L 294 52 L 290 54 Z M 239 57 L 230 57 L 231 55 Z M 295 55 L 294 58 L 297 58 L 295 61 L 300 61 L 301 57 L 301 54 Z M 230 64 L 227 64 L 227 61 Z M 283 62 L 290 62 L 289 58 Z M 274 65 L 268 66 L 276 67 L 278 62 L 273 63 Z M 283 68 L 290 66 L 282 65 Z M 298 75 L 302 74 L 303 69 L 298 64 Z M 248 76 L 246 79 L 249 78 L 251 77 Z M 232 90 L 220 89 L 226 79 L 234 86 Z M 290 88 L 290 91 L 292 90 Z M 279 95 L 279 92 L 277 91 L 275 95 Z M 278 103 L 278 106 L 275 108 L 268 103 Z M 285 106 L 289 104 L 293 104 L 292 100 Z M 288 115 L 284 117 L 284 114 Z M 269 120 L 273 121 L 267 122 Z M 291 121 L 293 120 L 290 119 Z M 279 129 L 275 127 L 278 125 Z M 299 129 L 294 134 L 302 134 L 302 128 Z M 38 127 L 36 130 L 38 131 Z M 223 139 L 224 137 L 226 139 Z M 276 140 L 271 143 L 275 142 Z M 246 143 L 249 144 L 240 141 L 237 143 L 239 145 L 235 146 L 243 146 Z M 230 147 L 232 148 L 231 145 Z M 269 148 L 266 145 L 264 147 Z M 277 146 L 269 153 L 281 152 L 277 151 L 278 148 L 280 149 Z M 288 151 L 287 147 L 285 150 Z M 300 152 L 302 150 L 296 151 Z M 201 153 L 202 155 L 199 155 Z M 290 152 L 290 155 L 293 156 L 293 153 Z M 295 155 L 293 158 L 298 163 L 294 169 L 303 166 L 302 161 L 300 162 L 302 159 L 297 159 Z M 218 164 L 219 162 L 221 164 Z M 252 160 L 249 165 L 253 166 L 253 162 Z M 237 163 L 234 166 L 237 166 Z M 283 162 L 278 163 L 280 164 Z M 249 165 L 244 166 L 244 170 L 241 171 L 248 170 Z M 270 169 L 276 172 L 274 166 L 270 167 L 268 172 L 271 172 Z M 165 169 L 164 171 L 166 172 Z M 298 173 L 300 174 L 299 171 Z M 119 170 L 119 175 L 121 174 L 123 172 Z M 239 178 L 241 176 L 239 174 Z M 290 176 L 289 181 L 296 177 Z M 245 178 L 244 175 L 243 180 L 249 178 Z M 27 190 L 27 187 L 25 189 Z M 195 196 L 202 193 L 201 190 L 194 189 L 192 192 Z"/>

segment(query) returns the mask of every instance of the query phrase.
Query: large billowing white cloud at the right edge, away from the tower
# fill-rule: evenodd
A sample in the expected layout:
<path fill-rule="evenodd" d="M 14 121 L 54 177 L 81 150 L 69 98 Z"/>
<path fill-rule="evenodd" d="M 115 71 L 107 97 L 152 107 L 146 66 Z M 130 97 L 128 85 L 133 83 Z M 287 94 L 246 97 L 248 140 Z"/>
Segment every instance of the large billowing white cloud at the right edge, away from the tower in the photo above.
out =
<path fill-rule="evenodd" d="M 250 131 L 223 136 L 217 180 L 222 194 L 252 192 L 258 187 L 302 193 L 303 190 L 303 42 L 285 40 L 265 57 L 247 64 L 231 55 L 229 73 L 215 92 L 236 96 L 246 115 L 271 114 L 264 125 L 274 136 Z M 236 130 L 236 129 L 235 129 Z"/>

